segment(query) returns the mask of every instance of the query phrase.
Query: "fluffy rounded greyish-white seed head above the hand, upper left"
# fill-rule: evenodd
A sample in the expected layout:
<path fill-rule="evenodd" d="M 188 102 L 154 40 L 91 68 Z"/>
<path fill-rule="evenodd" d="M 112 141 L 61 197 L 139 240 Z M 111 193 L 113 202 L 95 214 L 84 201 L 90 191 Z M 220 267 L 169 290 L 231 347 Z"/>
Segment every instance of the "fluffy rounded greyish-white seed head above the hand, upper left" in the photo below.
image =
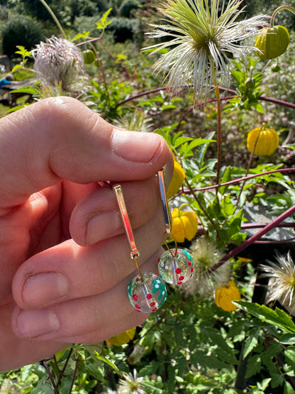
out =
<path fill-rule="evenodd" d="M 65 92 L 77 89 L 84 74 L 82 53 L 65 38 L 53 36 L 33 50 L 34 70 L 38 80 L 52 87 L 61 84 Z"/>

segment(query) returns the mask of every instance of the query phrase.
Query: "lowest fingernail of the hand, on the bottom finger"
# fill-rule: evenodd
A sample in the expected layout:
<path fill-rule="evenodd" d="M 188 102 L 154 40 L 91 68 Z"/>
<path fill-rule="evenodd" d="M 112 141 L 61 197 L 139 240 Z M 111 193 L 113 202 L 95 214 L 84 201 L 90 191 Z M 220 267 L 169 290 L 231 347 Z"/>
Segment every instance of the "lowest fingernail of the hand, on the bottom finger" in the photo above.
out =
<path fill-rule="evenodd" d="M 52 310 L 22 310 L 18 314 L 17 332 L 22 338 L 49 334 L 59 328 L 60 322 Z"/>

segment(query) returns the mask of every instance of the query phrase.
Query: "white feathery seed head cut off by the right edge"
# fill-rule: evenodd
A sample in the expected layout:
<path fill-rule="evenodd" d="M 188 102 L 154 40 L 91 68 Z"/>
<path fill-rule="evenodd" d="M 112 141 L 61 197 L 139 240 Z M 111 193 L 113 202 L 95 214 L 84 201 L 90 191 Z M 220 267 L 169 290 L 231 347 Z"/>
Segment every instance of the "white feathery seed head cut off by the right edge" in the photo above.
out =
<path fill-rule="evenodd" d="M 295 265 L 290 252 L 277 255 L 277 262 L 261 265 L 262 277 L 269 278 L 267 302 L 278 301 L 290 314 L 295 314 Z"/>

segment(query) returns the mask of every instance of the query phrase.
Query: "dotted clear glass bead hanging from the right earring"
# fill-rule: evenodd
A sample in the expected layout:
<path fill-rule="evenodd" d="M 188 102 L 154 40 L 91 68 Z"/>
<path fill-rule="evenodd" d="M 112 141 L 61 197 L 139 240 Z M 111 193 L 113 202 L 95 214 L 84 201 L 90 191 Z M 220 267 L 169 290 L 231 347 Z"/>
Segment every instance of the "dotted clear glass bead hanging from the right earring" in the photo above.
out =
<path fill-rule="evenodd" d="M 171 285 L 187 282 L 194 271 L 194 261 L 184 249 L 165 251 L 158 263 L 160 277 Z"/>

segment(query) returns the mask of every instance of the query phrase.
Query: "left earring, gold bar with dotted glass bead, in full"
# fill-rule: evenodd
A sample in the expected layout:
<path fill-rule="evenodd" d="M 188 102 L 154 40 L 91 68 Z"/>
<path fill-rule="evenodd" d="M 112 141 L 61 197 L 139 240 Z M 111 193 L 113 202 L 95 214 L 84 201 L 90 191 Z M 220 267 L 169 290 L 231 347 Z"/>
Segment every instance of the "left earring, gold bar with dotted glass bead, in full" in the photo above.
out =
<path fill-rule="evenodd" d="M 138 275 L 130 281 L 127 288 L 127 297 L 130 304 L 138 312 L 155 312 L 161 307 L 167 298 L 167 290 L 164 281 L 155 273 L 140 272 L 138 258 L 140 253 L 135 245 L 133 231 L 130 225 L 126 204 L 121 185 L 113 186 L 118 206 L 121 212 L 126 236 L 130 246 L 130 257 L 135 261 Z"/>

